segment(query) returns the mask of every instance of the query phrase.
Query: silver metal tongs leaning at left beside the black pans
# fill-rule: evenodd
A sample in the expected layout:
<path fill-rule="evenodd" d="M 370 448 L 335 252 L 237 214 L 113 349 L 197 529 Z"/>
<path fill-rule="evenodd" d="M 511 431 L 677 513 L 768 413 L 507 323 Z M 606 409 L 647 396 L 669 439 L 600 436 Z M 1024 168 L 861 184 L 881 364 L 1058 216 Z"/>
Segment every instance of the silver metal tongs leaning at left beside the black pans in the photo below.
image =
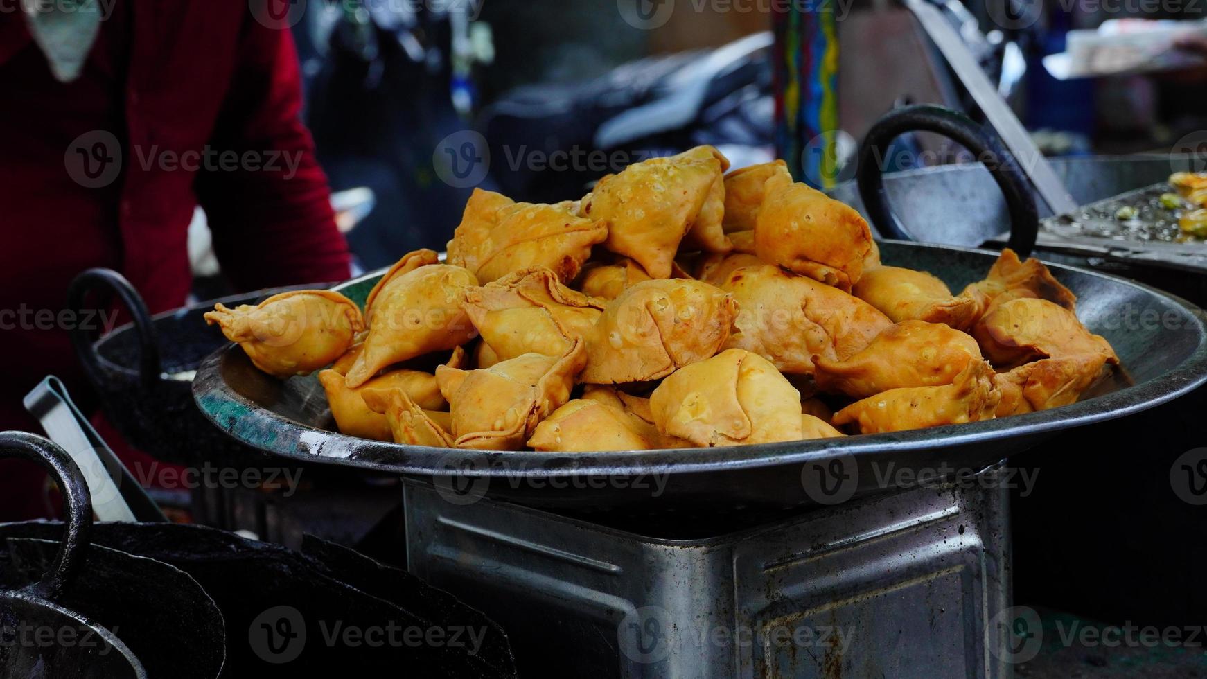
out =
<path fill-rule="evenodd" d="M 80 412 L 66 387 L 49 375 L 25 394 L 25 410 L 42 423 L 51 440 L 59 444 L 80 467 L 92 509 L 100 521 L 168 521 L 112 449 Z"/>

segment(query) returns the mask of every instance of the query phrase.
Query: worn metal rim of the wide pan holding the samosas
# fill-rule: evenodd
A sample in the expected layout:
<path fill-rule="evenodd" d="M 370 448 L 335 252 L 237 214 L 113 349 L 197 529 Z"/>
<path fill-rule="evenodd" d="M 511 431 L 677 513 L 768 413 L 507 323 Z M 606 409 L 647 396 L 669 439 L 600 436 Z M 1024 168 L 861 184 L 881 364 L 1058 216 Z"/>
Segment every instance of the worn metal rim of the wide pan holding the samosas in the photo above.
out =
<path fill-rule="evenodd" d="M 884 242 L 909 247 L 975 252 L 995 257 L 999 254 L 999 252 L 993 250 L 975 247 L 920 244 L 891 239 L 885 239 Z M 1151 380 L 1051 410 L 904 432 L 716 447 L 593 452 L 480 451 L 406 445 L 349 437 L 288 420 L 272 410 L 256 405 L 227 388 L 221 379 L 221 363 L 227 352 L 240 351 L 234 344 L 228 344 L 215 351 L 202 362 L 197 370 L 197 377 L 193 381 L 193 396 L 202 412 L 215 426 L 244 444 L 272 455 L 292 460 L 354 466 L 410 475 L 508 478 L 558 474 L 624 475 L 663 472 L 689 474 L 695 472 L 715 472 L 718 469 L 797 464 L 817 457 L 829 457 L 835 453 L 851 456 L 897 455 L 908 451 L 966 446 L 976 443 L 999 441 L 1010 438 L 1011 434 L 1031 437 L 1123 417 L 1173 400 L 1207 382 L 1207 327 L 1203 324 L 1203 318 L 1196 314 L 1194 305 L 1188 300 L 1136 281 L 1078 267 L 1050 262 L 1045 262 L 1045 264 L 1055 269 L 1109 280 L 1113 285 L 1130 286 L 1144 291 L 1145 294 L 1164 298 L 1173 305 L 1182 308 L 1186 316 L 1191 318 L 1199 332 L 1199 345 L 1184 362 Z M 340 291 L 380 275 L 381 271 L 365 274 L 334 286 L 332 289 Z M 221 416 L 226 420 L 234 418 L 232 427 L 222 425 L 211 415 L 211 411 L 217 409 L 208 408 L 205 402 L 214 402 L 215 399 L 218 402 L 216 405 L 221 405 Z M 297 440 L 298 444 L 305 443 L 310 446 L 310 450 L 273 450 L 264 447 L 261 439 L 246 435 L 247 433 L 263 434 L 266 429 L 292 432 L 297 435 L 278 435 L 275 439 Z M 396 455 L 398 460 L 383 461 L 383 458 L 391 453 Z M 372 456 L 373 460 L 363 460 L 363 456 Z"/>

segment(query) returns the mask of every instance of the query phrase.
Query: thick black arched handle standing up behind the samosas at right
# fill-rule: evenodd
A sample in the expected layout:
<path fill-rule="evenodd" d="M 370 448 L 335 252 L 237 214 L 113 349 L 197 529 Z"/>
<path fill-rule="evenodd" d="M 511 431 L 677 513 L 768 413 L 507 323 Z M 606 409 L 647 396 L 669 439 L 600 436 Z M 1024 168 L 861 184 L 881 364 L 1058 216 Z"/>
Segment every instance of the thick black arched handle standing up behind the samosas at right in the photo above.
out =
<path fill-rule="evenodd" d="M 871 223 L 887 235 L 905 240 L 915 240 L 893 215 L 885 195 L 885 177 L 881 159 L 886 157 L 888 145 L 908 131 L 933 131 L 961 144 L 985 164 L 993 176 L 998 188 L 1005 195 L 1005 206 L 1010 212 L 1009 246 L 1020 257 L 1027 257 L 1036 246 L 1039 235 L 1039 212 L 1036 198 L 1031 193 L 1031 183 L 1019 168 L 1019 162 L 1007 151 L 997 135 L 972 118 L 931 104 L 903 106 L 890 111 L 876 121 L 859 147 L 859 165 L 856 181 L 859 186 L 859 198 Z"/>

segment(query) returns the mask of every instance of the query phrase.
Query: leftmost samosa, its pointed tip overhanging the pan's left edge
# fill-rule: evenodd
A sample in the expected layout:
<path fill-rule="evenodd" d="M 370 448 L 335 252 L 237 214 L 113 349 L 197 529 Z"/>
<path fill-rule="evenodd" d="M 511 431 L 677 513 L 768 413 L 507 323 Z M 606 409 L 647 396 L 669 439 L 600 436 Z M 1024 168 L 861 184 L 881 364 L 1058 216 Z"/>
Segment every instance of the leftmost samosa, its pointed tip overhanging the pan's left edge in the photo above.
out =
<path fill-rule="evenodd" d="M 275 377 L 309 375 L 343 356 L 365 329 L 356 304 L 338 292 L 299 289 L 260 304 L 215 304 L 206 324 L 238 343 L 256 368 Z"/>

